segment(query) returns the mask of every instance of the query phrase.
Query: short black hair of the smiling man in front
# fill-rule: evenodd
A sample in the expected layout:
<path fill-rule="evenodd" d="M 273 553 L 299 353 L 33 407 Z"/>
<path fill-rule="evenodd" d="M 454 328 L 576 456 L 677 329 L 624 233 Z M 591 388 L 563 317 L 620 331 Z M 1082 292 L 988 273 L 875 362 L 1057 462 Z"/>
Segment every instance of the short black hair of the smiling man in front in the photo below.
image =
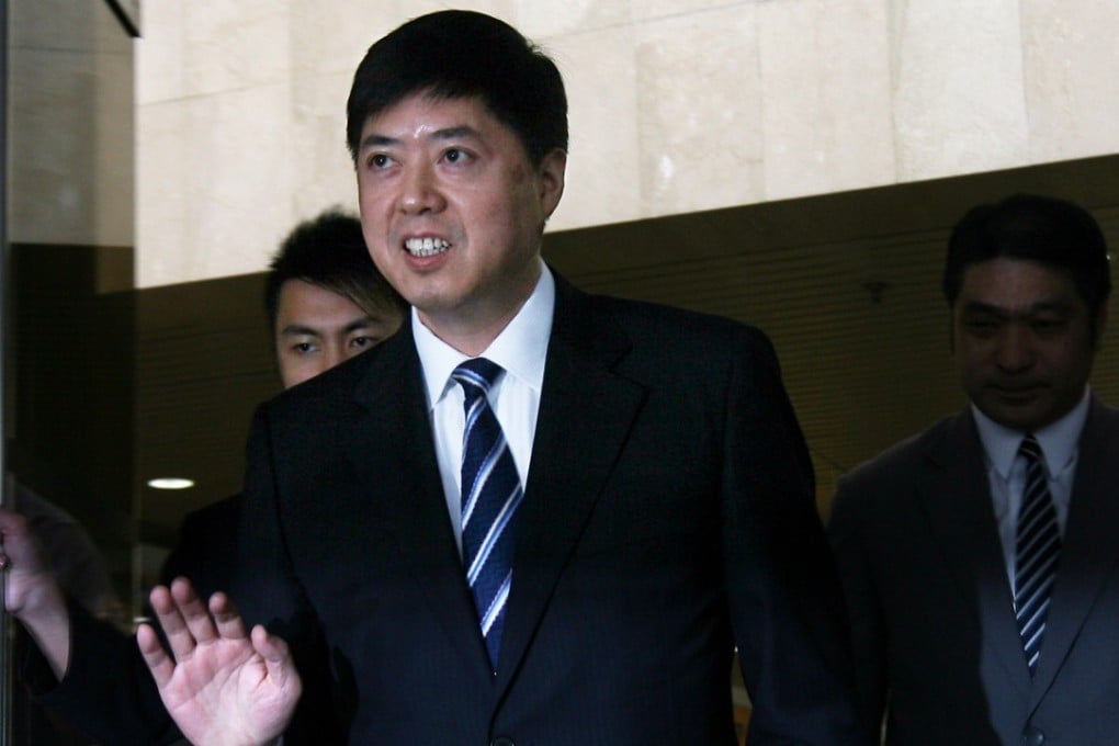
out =
<path fill-rule="evenodd" d="M 508 23 L 469 10 L 413 19 L 376 41 L 354 74 L 346 144 L 356 161 L 369 117 L 407 96 L 477 97 L 539 166 L 567 150 L 567 96 L 555 63 Z"/>

